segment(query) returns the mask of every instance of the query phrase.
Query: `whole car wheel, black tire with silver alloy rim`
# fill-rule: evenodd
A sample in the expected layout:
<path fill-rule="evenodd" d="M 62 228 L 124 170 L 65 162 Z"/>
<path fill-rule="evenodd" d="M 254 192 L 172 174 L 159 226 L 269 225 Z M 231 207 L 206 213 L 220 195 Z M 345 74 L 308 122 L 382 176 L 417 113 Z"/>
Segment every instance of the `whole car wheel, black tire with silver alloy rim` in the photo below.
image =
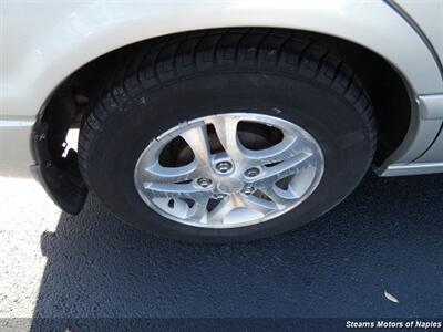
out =
<path fill-rule="evenodd" d="M 368 94 L 328 45 L 234 29 L 140 46 L 93 98 L 79 163 L 90 189 L 138 229 L 245 241 L 295 229 L 368 170 Z"/>

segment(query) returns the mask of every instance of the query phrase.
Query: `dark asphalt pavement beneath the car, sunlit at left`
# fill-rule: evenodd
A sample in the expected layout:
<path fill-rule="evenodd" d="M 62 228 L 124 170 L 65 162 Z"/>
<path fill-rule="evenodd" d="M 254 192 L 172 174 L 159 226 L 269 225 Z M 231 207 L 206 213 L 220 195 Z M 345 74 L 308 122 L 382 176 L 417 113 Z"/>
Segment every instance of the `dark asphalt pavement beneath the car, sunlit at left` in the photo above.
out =
<path fill-rule="evenodd" d="M 320 219 L 238 245 L 144 235 L 94 197 L 70 216 L 33 180 L 1 178 L 0 211 L 2 318 L 443 317 L 443 175 L 369 174 Z"/>

